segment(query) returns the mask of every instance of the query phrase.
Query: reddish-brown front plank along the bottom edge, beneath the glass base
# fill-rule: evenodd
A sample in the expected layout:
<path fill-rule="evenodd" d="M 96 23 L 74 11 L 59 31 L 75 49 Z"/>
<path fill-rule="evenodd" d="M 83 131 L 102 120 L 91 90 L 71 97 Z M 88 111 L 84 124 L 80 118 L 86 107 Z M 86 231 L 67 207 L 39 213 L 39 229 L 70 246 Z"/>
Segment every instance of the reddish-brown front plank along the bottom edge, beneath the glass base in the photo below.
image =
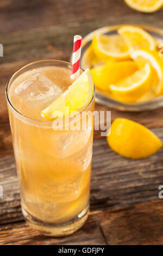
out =
<path fill-rule="evenodd" d="M 24 222 L 0 233 L 0 245 L 163 245 L 161 200 L 93 212 L 76 233 L 45 237 Z"/>

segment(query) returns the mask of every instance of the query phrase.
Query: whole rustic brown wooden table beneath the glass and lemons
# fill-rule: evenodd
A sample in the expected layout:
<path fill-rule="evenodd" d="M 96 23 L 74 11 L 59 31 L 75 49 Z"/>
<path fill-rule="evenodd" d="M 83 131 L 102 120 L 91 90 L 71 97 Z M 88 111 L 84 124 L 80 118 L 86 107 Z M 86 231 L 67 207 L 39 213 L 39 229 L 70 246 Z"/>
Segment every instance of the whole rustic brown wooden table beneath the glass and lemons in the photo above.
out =
<path fill-rule="evenodd" d="M 5 102 L 5 84 L 18 68 L 39 59 L 69 60 L 74 34 L 85 36 L 102 26 L 141 23 L 163 29 L 163 9 L 138 13 L 122 0 L 1 0 L 0 43 L 0 199 L 1 245 L 154 245 L 163 244 L 163 148 L 141 161 L 114 153 L 95 132 L 91 212 L 76 233 L 45 237 L 28 227 L 21 213 L 15 160 Z M 127 113 L 111 110 L 111 119 L 126 117 L 152 129 L 163 141 L 163 109 Z"/>

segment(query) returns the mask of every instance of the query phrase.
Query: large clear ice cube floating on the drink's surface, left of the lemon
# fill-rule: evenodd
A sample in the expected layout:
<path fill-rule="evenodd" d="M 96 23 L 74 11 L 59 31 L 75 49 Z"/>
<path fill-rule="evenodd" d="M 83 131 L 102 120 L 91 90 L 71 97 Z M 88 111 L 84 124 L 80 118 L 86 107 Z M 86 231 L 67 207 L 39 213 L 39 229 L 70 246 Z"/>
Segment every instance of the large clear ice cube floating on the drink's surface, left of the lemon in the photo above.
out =
<path fill-rule="evenodd" d="M 24 100 L 49 100 L 50 97 L 60 95 L 62 91 L 45 75 L 36 72 L 20 83 L 16 87 L 15 93 Z"/>

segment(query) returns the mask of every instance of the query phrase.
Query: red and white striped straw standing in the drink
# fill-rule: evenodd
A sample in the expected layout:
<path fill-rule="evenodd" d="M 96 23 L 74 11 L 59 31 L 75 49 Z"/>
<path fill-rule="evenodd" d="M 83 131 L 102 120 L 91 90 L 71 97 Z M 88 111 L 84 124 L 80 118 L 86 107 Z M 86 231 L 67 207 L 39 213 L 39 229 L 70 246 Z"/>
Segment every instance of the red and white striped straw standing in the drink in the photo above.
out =
<path fill-rule="evenodd" d="M 80 56 L 82 48 L 82 36 L 75 35 L 73 39 L 73 54 L 72 54 L 72 79 L 80 75 Z"/>

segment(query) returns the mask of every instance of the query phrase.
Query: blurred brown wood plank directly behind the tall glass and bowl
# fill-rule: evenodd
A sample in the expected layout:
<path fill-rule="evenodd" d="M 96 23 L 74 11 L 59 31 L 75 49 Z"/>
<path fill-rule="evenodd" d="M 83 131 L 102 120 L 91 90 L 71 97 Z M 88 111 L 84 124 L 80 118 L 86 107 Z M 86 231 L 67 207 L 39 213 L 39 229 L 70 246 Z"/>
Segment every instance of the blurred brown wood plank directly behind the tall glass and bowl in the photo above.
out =
<path fill-rule="evenodd" d="M 84 4 L 82 3 L 82 5 Z M 99 2 L 99 5 L 102 4 Z M 131 10 L 131 12 L 133 13 L 133 10 Z M 83 19 L 81 22 L 77 19 L 75 22 L 66 23 L 66 26 L 63 24 L 55 24 L 48 27 L 30 28 L 27 31 L 20 30 L 2 33 L 0 35 L 0 42 L 4 46 L 4 57 L 0 58 L 0 63 L 24 59 L 40 59 L 40 57 L 69 60 L 72 52 L 74 34 L 85 36 L 87 33 L 103 26 L 134 22 L 155 27 L 158 27 L 159 22 L 159 27 L 163 28 L 163 21 L 160 19 L 163 14 L 163 9 L 160 10 L 158 14 L 157 16 L 147 16 L 142 13 L 136 13 L 134 17 L 132 15 L 120 15 L 115 19 L 115 14 L 112 16 L 107 13 L 106 17 L 104 15 L 104 17 L 101 16 L 100 19 L 92 19 L 89 21 Z"/>

